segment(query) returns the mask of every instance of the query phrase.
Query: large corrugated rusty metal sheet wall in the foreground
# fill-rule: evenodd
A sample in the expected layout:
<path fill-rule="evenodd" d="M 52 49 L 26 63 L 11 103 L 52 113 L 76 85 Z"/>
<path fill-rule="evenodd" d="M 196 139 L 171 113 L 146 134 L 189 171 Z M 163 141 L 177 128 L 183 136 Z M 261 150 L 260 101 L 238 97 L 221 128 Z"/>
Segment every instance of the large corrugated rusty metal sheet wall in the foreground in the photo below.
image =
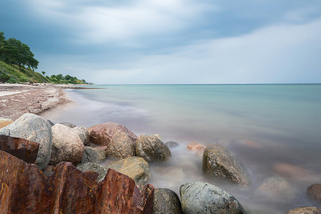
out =
<path fill-rule="evenodd" d="M 34 164 L 0 150 L 0 213 L 152 213 L 154 187 L 143 194 L 133 179 L 109 169 L 97 182 L 96 172 L 82 173 L 61 162 L 50 176 Z"/>

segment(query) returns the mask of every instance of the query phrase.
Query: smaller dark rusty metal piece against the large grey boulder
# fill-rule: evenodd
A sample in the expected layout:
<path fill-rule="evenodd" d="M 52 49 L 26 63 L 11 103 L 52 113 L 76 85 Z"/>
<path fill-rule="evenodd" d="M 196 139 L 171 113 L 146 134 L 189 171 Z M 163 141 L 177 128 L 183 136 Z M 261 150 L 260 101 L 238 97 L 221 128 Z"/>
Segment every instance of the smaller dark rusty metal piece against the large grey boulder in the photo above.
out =
<path fill-rule="evenodd" d="M 23 138 L 0 135 L 0 150 L 3 150 L 26 163 L 34 164 L 37 159 L 39 143 Z"/>

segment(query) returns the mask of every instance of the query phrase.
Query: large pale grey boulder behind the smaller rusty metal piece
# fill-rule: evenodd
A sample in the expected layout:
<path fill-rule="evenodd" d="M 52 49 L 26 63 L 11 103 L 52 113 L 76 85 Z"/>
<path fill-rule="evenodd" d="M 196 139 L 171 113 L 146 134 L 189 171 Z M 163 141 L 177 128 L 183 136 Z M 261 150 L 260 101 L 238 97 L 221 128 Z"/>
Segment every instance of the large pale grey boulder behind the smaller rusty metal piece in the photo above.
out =
<path fill-rule="evenodd" d="M 47 119 L 42 116 L 26 113 L 13 123 L 0 129 L 0 134 L 19 137 L 39 143 L 35 164 L 44 169 L 50 160 L 52 132 Z"/>

